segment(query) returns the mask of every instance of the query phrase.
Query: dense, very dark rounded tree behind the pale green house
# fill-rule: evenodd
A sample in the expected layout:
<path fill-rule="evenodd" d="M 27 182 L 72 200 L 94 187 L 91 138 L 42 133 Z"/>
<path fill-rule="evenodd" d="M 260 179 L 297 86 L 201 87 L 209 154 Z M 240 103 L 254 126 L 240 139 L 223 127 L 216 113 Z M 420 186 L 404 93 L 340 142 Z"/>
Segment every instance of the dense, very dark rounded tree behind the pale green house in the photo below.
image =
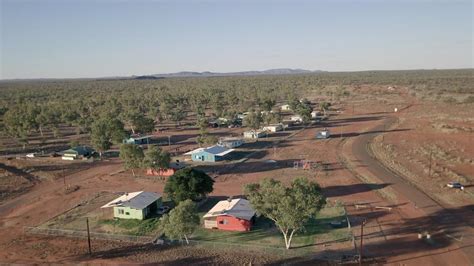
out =
<path fill-rule="evenodd" d="M 184 168 L 168 178 L 164 191 L 174 202 L 199 200 L 212 192 L 213 185 L 214 180 L 206 173 Z"/>

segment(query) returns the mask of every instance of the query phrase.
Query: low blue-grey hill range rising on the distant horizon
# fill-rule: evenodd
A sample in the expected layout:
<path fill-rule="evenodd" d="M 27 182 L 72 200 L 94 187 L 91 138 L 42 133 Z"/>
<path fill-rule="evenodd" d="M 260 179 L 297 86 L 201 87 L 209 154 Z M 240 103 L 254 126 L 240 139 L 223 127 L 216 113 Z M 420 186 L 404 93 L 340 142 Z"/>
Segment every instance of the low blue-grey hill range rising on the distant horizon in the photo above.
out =
<path fill-rule="evenodd" d="M 257 75 L 291 75 L 291 74 L 308 74 L 323 72 L 321 70 L 311 71 L 306 69 L 292 69 L 292 68 L 277 68 L 268 69 L 262 71 L 241 71 L 241 72 L 193 72 L 193 71 L 181 71 L 176 73 L 167 74 L 154 74 L 148 75 L 147 77 L 212 77 L 212 76 L 257 76 Z"/>

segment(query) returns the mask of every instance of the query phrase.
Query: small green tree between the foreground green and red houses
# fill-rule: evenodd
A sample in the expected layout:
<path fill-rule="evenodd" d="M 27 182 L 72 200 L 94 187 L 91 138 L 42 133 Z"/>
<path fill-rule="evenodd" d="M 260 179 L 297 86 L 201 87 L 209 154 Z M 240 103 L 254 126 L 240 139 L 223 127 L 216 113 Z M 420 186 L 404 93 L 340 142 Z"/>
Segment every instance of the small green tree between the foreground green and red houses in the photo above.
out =
<path fill-rule="evenodd" d="M 165 235 L 173 240 L 186 240 L 189 244 L 188 235 L 191 235 L 199 226 L 200 219 L 196 204 L 191 200 L 185 200 L 176 208 L 161 217 L 160 226 Z"/>

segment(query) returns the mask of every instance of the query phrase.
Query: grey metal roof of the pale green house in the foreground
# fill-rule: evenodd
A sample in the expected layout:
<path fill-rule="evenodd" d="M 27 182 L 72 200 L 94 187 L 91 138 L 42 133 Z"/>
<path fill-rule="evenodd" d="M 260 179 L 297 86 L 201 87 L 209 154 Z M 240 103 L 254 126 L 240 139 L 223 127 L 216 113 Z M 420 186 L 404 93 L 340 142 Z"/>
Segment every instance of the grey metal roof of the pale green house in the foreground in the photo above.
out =
<path fill-rule="evenodd" d="M 155 192 L 131 192 L 114 199 L 101 208 L 130 207 L 133 209 L 142 210 L 159 198 L 161 198 L 161 195 Z"/>

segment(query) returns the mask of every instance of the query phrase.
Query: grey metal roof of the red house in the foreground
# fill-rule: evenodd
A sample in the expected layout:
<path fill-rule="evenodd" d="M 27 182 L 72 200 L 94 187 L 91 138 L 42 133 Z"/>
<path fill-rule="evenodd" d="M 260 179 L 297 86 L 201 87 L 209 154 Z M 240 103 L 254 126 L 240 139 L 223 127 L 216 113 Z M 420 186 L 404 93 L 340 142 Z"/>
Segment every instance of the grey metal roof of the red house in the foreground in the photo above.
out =
<path fill-rule="evenodd" d="M 255 211 L 246 199 L 221 200 L 204 215 L 204 218 L 229 215 L 244 220 L 250 220 Z"/>

